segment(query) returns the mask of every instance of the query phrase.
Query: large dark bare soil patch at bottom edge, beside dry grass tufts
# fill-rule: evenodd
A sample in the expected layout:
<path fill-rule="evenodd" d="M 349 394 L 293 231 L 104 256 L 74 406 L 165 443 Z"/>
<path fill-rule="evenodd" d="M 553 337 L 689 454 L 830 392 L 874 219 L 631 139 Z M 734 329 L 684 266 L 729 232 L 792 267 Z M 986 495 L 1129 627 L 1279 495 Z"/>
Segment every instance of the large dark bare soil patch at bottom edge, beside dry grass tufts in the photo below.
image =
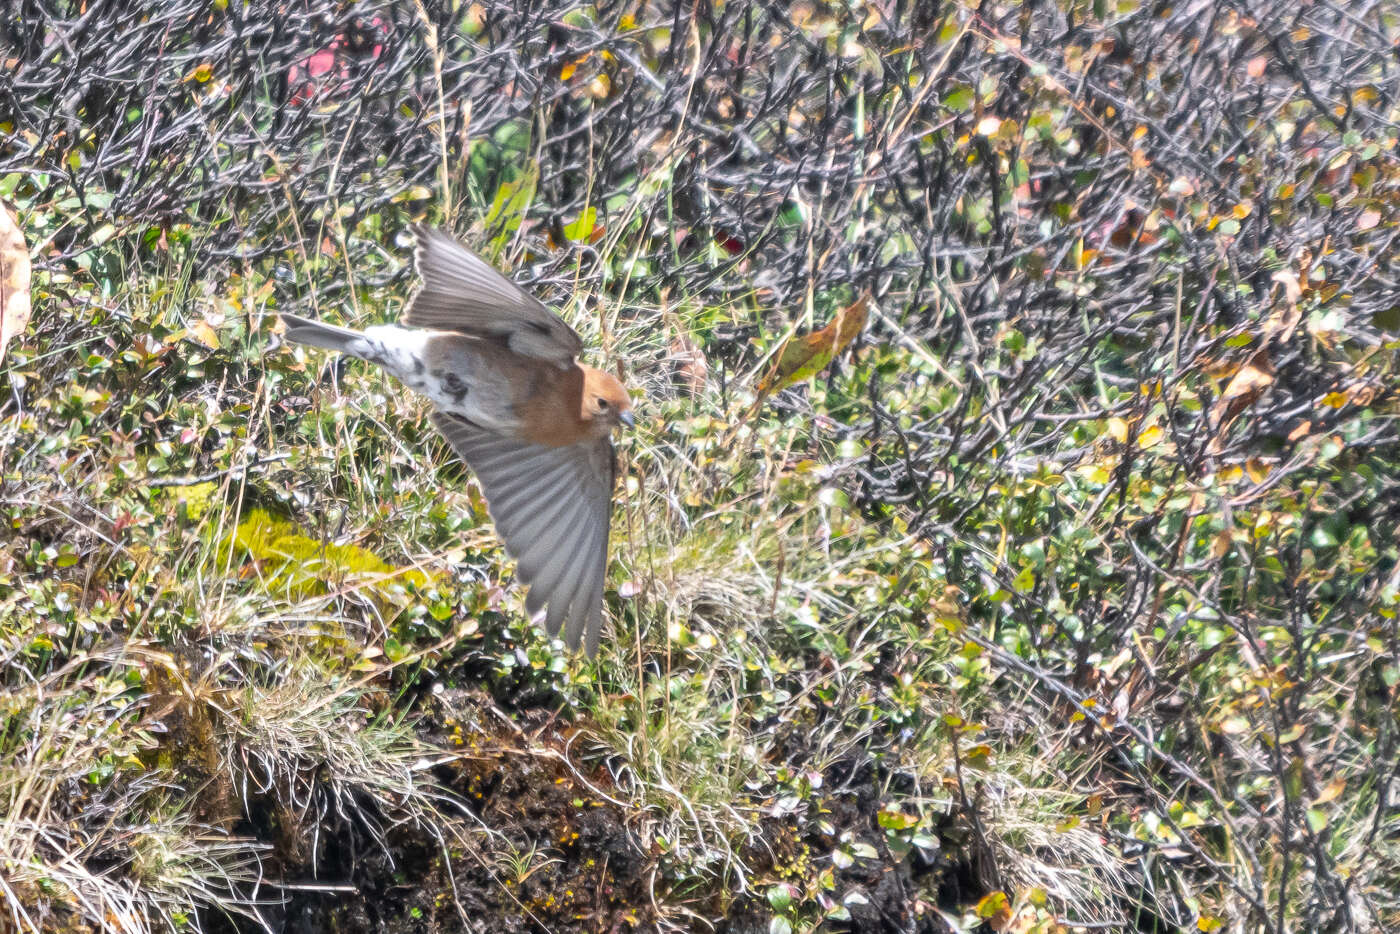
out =
<path fill-rule="evenodd" d="M 606 773 L 575 772 L 567 724 L 540 716 L 524 732 L 490 710 L 476 692 L 431 700 L 431 739 L 462 753 L 435 772 L 455 798 L 440 802 L 438 826 L 385 829 L 367 802 L 323 814 L 312 843 L 312 828 L 290 832 L 291 815 L 255 802 L 239 829 L 276 844 L 270 865 L 291 884 L 263 920 L 293 934 L 654 930 L 655 858 L 608 800 Z M 248 919 L 224 924 L 259 930 Z"/>

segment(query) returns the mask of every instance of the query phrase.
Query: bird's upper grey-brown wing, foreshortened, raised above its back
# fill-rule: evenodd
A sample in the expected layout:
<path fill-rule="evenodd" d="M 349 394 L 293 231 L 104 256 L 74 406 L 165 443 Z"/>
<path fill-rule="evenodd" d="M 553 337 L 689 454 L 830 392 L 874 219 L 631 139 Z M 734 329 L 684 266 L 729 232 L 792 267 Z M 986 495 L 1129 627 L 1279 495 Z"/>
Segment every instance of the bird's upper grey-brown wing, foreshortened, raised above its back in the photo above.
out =
<path fill-rule="evenodd" d="M 584 342 L 559 315 L 447 231 L 416 224 L 413 234 L 423 287 L 403 323 L 496 337 L 518 354 L 573 365 Z"/>

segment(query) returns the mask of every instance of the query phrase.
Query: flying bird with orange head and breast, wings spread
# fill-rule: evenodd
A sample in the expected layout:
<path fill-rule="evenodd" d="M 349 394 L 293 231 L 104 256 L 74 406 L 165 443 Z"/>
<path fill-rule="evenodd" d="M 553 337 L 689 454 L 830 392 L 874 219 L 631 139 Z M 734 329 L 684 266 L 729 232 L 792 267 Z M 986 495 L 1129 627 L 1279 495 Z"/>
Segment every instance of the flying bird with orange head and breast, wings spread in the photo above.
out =
<path fill-rule="evenodd" d="M 399 325 L 353 330 L 281 314 L 284 339 L 382 367 L 476 475 L 525 609 L 550 637 L 598 654 L 616 458 L 633 427 L 617 377 L 578 361 L 582 337 L 444 230 L 416 224 L 423 284 Z"/>

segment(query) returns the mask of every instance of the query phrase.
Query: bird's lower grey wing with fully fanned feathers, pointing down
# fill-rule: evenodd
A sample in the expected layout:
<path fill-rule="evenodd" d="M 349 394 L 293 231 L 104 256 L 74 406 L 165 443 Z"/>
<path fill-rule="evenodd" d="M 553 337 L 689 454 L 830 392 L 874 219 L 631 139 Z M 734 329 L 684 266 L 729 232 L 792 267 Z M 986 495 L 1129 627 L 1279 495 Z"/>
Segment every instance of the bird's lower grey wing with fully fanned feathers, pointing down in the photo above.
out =
<path fill-rule="evenodd" d="M 491 520 L 529 585 L 525 609 L 547 606 L 545 627 L 589 655 L 603 625 L 603 576 L 612 514 L 613 449 L 608 438 L 546 447 L 508 438 L 445 412 L 433 424 L 472 468 Z M 567 626 L 566 626 L 567 622 Z"/>

